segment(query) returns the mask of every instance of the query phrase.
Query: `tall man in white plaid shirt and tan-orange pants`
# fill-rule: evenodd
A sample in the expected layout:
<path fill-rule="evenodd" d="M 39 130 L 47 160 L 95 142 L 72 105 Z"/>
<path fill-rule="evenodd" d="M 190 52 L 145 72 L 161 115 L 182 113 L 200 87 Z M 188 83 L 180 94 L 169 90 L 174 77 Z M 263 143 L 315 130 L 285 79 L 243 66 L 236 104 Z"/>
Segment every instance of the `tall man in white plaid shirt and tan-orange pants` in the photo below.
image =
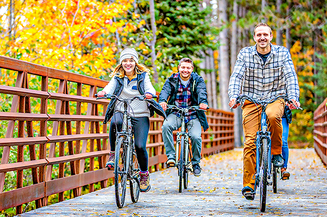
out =
<path fill-rule="evenodd" d="M 289 50 L 283 46 L 270 43 L 272 33 L 270 27 L 265 23 L 259 23 L 254 28 L 253 38 L 256 44 L 244 47 L 238 53 L 229 81 L 229 106 L 236 102 L 236 97 L 239 96 L 241 89 L 242 94 L 249 95 L 260 101 L 268 101 L 279 94 L 287 94 L 296 106 L 300 106 L 298 78 Z M 239 105 L 240 103 L 233 108 Z M 266 108 L 268 127 L 271 132 L 272 162 L 275 167 L 283 166 L 281 155 L 281 117 L 284 113 L 284 105 L 284 100 L 279 99 L 268 104 Z M 289 104 L 289 107 L 294 109 L 296 108 L 295 105 Z M 245 136 L 242 194 L 244 195 L 245 192 L 248 192 L 247 195 L 249 196 L 246 197 L 248 200 L 253 200 L 255 196 L 255 137 L 260 128 L 259 117 L 261 112 L 261 106 L 257 108 L 254 103 L 248 100 L 242 105 Z"/>

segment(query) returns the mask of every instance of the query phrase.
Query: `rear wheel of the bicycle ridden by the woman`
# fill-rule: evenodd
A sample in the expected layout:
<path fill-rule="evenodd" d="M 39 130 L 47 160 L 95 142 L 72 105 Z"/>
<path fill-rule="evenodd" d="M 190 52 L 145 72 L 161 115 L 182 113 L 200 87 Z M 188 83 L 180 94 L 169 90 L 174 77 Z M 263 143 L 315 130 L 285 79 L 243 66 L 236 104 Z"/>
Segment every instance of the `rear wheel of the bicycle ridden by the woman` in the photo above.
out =
<path fill-rule="evenodd" d="M 131 175 L 132 179 L 130 180 L 130 193 L 131 199 L 133 203 L 136 203 L 139 199 L 140 195 L 140 169 L 139 162 L 137 161 L 137 155 L 135 150 L 133 150 L 132 154 L 132 165 L 131 165 Z"/>

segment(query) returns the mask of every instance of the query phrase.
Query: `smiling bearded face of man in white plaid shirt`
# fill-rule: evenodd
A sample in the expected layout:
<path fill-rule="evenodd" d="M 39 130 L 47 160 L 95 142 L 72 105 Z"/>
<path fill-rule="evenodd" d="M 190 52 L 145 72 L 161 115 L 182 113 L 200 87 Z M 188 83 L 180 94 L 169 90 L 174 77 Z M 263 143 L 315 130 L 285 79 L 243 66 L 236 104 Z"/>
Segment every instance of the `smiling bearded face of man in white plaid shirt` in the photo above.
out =
<path fill-rule="evenodd" d="M 272 33 L 270 32 L 270 28 L 268 26 L 257 27 L 253 35 L 253 38 L 257 44 L 257 49 L 259 52 L 270 51 L 270 41 L 272 40 Z"/>

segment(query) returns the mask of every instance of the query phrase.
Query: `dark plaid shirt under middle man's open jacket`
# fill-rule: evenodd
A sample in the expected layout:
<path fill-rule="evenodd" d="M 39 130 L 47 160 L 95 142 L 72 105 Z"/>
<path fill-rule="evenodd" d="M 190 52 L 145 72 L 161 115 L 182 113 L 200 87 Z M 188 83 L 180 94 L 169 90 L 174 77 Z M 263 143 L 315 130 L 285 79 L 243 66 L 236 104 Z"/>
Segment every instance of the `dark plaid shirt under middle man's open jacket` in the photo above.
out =
<path fill-rule="evenodd" d="M 179 73 L 176 74 L 179 77 Z M 178 84 L 178 92 L 176 95 L 175 105 L 177 107 L 186 108 L 191 106 L 191 84 L 188 82 L 187 87 L 184 87 L 181 80 L 179 78 Z M 174 112 L 178 117 L 181 117 L 181 113 Z M 185 114 L 185 123 L 188 123 L 190 120 L 196 119 L 196 111 L 190 111 L 189 113 Z"/>

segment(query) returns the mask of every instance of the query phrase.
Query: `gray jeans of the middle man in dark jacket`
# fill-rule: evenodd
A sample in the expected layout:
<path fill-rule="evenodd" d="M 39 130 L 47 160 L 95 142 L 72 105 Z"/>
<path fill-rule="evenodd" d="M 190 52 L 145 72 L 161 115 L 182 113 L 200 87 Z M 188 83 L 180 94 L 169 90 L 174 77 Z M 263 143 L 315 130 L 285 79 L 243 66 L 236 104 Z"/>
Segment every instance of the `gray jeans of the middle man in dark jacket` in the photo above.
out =
<path fill-rule="evenodd" d="M 164 140 L 166 155 L 169 158 L 176 159 L 176 150 L 174 147 L 173 131 L 180 128 L 182 125 L 182 119 L 177 117 L 175 114 L 170 114 L 167 120 L 162 124 L 162 139 Z M 199 120 L 193 119 L 187 123 L 188 135 L 192 142 L 192 165 L 198 164 L 201 159 L 201 124 Z"/>

